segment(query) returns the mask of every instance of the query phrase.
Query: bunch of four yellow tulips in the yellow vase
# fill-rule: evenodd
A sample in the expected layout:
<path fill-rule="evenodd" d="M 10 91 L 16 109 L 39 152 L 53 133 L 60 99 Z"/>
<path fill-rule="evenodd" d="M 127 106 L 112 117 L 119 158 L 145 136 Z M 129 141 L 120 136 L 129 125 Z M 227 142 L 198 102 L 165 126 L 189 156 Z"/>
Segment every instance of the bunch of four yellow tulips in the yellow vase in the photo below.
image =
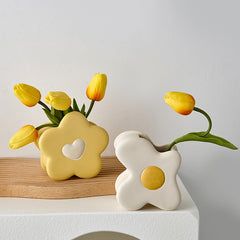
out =
<path fill-rule="evenodd" d="M 41 101 L 40 91 L 30 85 L 20 83 L 14 86 L 15 96 L 27 107 L 33 107 L 37 104 L 41 105 L 44 113 L 50 120 L 50 123 L 42 124 L 38 127 L 26 125 L 17 131 L 9 141 L 11 149 L 23 147 L 38 139 L 38 131 L 45 127 L 57 127 L 61 120 L 70 112 L 77 111 L 86 118 L 92 111 L 94 103 L 101 101 L 105 95 L 107 86 L 107 76 L 102 73 L 95 74 L 90 81 L 86 95 L 91 100 L 89 108 L 82 104 L 79 108 L 75 98 L 71 99 L 65 92 L 49 92 L 45 97 L 45 103 Z"/>

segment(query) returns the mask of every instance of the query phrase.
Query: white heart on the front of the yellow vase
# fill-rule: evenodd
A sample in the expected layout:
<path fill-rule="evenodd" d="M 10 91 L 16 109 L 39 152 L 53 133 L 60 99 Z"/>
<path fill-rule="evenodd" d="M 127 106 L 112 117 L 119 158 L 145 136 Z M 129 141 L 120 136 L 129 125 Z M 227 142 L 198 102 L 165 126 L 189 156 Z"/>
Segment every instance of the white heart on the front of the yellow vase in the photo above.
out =
<path fill-rule="evenodd" d="M 81 138 L 76 139 L 72 144 L 65 144 L 62 153 L 71 160 L 79 160 L 85 148 L 85 143 Z"/>

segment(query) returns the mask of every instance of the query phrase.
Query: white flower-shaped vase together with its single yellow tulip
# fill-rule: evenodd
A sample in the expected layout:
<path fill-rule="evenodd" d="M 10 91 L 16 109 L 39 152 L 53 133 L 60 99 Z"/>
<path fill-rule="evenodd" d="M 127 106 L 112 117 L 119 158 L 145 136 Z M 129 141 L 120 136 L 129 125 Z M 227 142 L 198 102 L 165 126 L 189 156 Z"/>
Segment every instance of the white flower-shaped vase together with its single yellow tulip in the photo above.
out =
<path fill-rule="evenodd" d="M 117 201 L 128 210 L 141 209 L 152 204 L 163 210 L 174 210 L 181 202 L 177 173 L 181 156 L 176 144 L 185 141 L 210 142 L 236 150 L 224 138 L 210 133 L 212 121 L 202 109 L 195 107 L 195 99 L 187 93 L 169 92 L 164 97 L 176 112 L 189 115 L 192 111 L 203 114 L 209 123 L 205 132 L 192 132 L 175 139 L 168 145 L 155 146 L 141 132 L 121 133 L 114 141 L 118 160 L 126 167 L 115 183 Z"/>

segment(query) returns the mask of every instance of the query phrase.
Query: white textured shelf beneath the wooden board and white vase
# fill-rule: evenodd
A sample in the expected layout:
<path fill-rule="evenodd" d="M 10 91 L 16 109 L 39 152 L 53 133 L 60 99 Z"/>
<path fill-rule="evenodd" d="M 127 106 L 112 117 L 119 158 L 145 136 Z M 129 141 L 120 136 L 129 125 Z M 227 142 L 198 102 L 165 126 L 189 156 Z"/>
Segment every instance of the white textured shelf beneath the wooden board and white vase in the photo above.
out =
<path fill-rule="evenodd" d="M 126 211 L 115 196 L 71 200 L 0 198 L 1 239 L 73 239 L 96 232 L 126 233 L 143 240 L 197 240 L 199 214 L 179 179 L 182 203 L 175 211 L 146 206 Z"/>

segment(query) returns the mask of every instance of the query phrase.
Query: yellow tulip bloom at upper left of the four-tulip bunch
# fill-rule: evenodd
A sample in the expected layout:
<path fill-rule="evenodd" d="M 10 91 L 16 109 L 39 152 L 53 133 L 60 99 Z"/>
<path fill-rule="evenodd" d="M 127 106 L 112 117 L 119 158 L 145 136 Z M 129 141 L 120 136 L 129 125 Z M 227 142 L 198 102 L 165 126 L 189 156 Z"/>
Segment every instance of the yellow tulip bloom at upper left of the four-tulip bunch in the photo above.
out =
<path fill-rule="evenodd" d="M 15 96 L 26 106 L 33 107 L 41 99 L 41 93 L 33 86 L 19 83 L 14 86 Z"/>

